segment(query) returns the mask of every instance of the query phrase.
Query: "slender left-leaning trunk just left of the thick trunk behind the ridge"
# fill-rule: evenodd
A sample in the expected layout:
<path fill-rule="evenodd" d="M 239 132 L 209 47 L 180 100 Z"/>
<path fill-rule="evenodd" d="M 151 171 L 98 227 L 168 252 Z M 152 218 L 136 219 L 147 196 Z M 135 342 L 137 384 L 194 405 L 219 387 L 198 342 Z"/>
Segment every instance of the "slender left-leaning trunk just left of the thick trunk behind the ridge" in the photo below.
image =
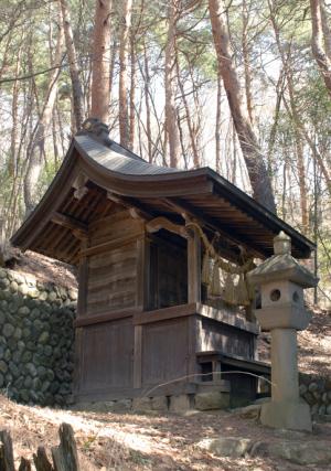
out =
<path fill-rule="evenodd" d="M 65 45 L 68 57 L 70 73 L 73 87 L 73 115 L 75 118 L 74 129 L 79 129 L 84 120 L 84 107 L 83 107 L 83 92 L 82 84 L 79 79 L 79 67 L 78 58 L 76 54 L 76 49 L 74 44 L 74 35 L 71 25 L 71 17 L 67 9 L 66 0 L 60 0 L 62 18 L 63 18 L 63 28 L 65 35 Z"/>

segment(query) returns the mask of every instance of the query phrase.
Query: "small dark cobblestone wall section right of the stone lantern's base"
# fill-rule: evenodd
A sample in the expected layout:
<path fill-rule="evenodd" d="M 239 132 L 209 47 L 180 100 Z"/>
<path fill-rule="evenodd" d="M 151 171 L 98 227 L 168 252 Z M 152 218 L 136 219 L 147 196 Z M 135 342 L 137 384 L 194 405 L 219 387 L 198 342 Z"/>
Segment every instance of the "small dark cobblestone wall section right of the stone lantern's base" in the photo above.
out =
<path fill-rule="evenodd" d="M 300 374 L 300 396 L 310 405 L 312 415 L 331 415 L 331 377 Z"/>

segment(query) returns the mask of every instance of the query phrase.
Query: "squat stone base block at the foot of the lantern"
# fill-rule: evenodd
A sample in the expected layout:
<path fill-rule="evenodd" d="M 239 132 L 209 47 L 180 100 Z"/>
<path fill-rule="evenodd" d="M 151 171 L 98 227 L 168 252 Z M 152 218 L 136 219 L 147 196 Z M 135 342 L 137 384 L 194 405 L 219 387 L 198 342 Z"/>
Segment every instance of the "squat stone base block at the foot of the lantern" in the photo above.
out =
<path fill-rule="evenodd" d="M 309 405 L 303 402 L 270 402 L 263 404 L 260 411 L 263 425 L 290 430 L 312 430 Z"/>

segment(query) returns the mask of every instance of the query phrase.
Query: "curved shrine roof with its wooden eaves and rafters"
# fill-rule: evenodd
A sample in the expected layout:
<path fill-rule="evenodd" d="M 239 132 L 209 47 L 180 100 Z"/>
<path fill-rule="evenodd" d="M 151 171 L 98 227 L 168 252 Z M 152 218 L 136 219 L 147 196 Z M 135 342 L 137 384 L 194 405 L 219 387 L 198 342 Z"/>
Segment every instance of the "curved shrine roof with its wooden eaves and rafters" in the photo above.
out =
<path fill-rule="evenodd" d="M 83 190 L 79 193 L 81 190 Z M 292 255 L 307 258 L 314 244 L 210 168 L 177 170 L 146 162 L 111 141 L 84 130 L 45 195 L 11 242 L 65 263 L 77 263 L 79 235 L 111 215 L 114 201 L 150 217 L 186 213 L 221 234 L 229 251 L 238 245 L 261 258 L 273 255 L 280 231 L 291 237 Z"/>

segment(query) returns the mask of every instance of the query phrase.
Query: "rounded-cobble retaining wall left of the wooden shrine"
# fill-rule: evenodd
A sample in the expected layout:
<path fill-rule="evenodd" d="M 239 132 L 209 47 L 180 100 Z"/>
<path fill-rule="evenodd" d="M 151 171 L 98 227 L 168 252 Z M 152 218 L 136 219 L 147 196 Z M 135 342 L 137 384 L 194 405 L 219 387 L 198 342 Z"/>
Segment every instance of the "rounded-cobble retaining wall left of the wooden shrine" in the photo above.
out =
<path fill-rule="evenodd" d="M 77 291 L 0 269 L 0 390 L 65 405 L 72 394 Z"/>

